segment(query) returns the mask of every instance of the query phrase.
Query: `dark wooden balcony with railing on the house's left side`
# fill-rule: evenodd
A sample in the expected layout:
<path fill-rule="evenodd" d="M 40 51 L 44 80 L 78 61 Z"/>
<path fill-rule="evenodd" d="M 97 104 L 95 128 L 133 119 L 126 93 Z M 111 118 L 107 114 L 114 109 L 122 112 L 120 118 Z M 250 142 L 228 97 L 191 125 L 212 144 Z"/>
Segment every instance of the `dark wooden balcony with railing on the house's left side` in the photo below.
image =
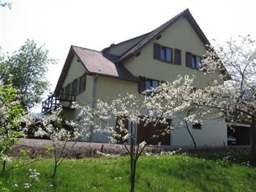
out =
<path fill-rule="evenodd" d="M 51 95 L 42 102 L 42 113 L 49 113 L 62 106 L 65 110 L 71 110 L 72 102 L 76 101 L 76 95 L 61 94 L 60 97 Z"/>

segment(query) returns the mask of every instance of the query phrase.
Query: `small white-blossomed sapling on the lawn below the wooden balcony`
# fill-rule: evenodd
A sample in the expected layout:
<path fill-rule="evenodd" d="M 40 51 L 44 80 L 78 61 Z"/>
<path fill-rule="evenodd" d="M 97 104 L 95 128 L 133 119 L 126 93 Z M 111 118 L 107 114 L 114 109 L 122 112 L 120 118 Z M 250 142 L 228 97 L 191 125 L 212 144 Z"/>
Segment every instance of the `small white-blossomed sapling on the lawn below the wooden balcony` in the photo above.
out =
<path fill-rule="evenodd" d="M 46 146 L 45 150 L 49 156 L 52 153 L 54 156 L 53 178 L 68 152 L 76 145 L 77 139 L 83 135 L 83 129 L 78 129 L 77 122 L 61 118 L 61 111 L 60 107 L 56 111 L 52 111 L 50 115 L 44 115 L 34 122 L 37 125 L 35 136 L 45 136 L 52 141 L 52 146 Z M 68 141 L 73 142 L 68 143 Z"/>

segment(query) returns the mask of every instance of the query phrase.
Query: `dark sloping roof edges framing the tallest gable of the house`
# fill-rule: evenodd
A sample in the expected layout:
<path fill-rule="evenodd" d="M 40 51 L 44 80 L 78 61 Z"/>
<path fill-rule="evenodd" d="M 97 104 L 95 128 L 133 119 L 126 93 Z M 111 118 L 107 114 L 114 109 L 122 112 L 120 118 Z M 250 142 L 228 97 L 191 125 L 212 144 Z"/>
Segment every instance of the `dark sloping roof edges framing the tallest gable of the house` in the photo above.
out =
<path fill-rule="evenodd" d="M 132 55 L 140 52 L 140 50 L 143 47 L 145 47 L 151 40 L 154 40 L 155 38 L 157 38 L 157 36 L 161 35 L 161 33 L 163 33 L 163 31 L 165 29 L 170 27 L 174 22 L 176 22 L 177 20 L 179 20 L 182 17 L 186 17 L 186 19 L 188 19 L 189 24 L 191 24 L 192 28 L 195 30 L 196 34 L 198 35 L 200 40 L 204 43 L 204 45 L 206 45 L 206 44 L 209 45 L 210 44 L 209 40 L 207 40 L 202 29 L 200 29 L 200 27 L 196 23 L 195 19 L 193 18 L 193 16 L 189 12 L 189 10 L 186 9 L 183 12 L 176 15 L 175 17 L 173 17 L 172 19 L 165 22 L 163 25 L 154 29 L 152 32 L 148 33 L 148 35 L 145 36 L 145 38 L 143 38 L 140 42 L 138 42 L 138 44 L 134 45 L 133 47 L 131 47 L 131 49 L 129 49 L 127 52 L 125 52 L 122 56 L 120 56 L 120 58 L 117 62 L 120 63 L 121 61 L 124 61 L 125 59 L 129 58 L 129 56 L 132 56 Z"/>

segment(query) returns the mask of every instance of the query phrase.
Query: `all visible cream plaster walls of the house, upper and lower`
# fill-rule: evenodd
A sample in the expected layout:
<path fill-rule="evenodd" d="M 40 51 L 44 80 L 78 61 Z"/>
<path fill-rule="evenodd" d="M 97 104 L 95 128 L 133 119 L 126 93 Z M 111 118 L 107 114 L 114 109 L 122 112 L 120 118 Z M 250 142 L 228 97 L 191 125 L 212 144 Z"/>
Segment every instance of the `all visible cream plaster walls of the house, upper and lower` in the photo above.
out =
<path fill-rule="evenodd" d="M 154 60 L 154 42 L 157 44 L 175 48 L 181 50 L 181 65 L 174 65 L 172 63 L 166 63 L 159 60 Z M 112 54 L 121 54 L 124 49 L 131 46 L 135 42 L 131 41 L 127 44 L 120 45 L 120 49 L 113 49 Z M 123 47 L 122 47 L 123 46 Z M 197 56 L 203 56 L 205 54 L 204 44 L 200 41 L 189 22 L 182 18 L 175 22 L 169 29 L 166 29 L 159 40 L 153 40 L 140 52 L 140 56 L 132 56 L 128 60 L 122 63 L 134 76 L 143 76 L 150 79 L 156 79 L 160 81 L 173 81 L 178 75 L 184 76 L 186 74 L 196 76 L 195 86 L 203 87 L 207 85 L 212 79 L 209 76 L 204 75 L 203 72 L 186 67 L 186 51 L 191 52 Z M 83 64 L 77 62 L 77 57 L 74 56 L 70 68 L 68 70 L 67 77 L 63 83 L 63 87 L 68 83 L 72 83 L 74 79 L 82 76 L 85 72 Z M 96 80 L 96 79 L 97 80 Z M 93 83 L 96 81 L 96 83 Z M 220 79 L 218 81 L 221 82 Z M 94 84 L 94 85 L 93 85 Z M 118 94 L 126 95 L 126 93 L 138 93 L 138 83 L 131 81 L 124 81 L 121 79 L 114 79 L 103 76 L 87 76 L 86 77 L 86 90 L 79 93 L 76 97 L 76 101 L 79 104 L 87 103 L 92 99 L 93 86 L 95 86 L 96 99 L 101 99 L 106 102 L 116 99 Z M 78 111 L 67 111 L 65 118 L 75 118 Z M 115 120 L 111 122 L 115 125 Z M 202 129 L 192 129 L 192 125 L 189 124 L 193 136 L 195 137 L 196 144 L 198 146 L 220 146 L 223 142 L 227 143 L 227 128 L 224 120 L 211 120 L 204 122 Z M 93 142 L 108 142 L 108 138 L 103 134 L 93 134 Z M 173 146 L 191 146 L 193 142 L 188 134 L 188 131 L 184 127 L 173 130 L 170 136 L 170 143 Z"/>

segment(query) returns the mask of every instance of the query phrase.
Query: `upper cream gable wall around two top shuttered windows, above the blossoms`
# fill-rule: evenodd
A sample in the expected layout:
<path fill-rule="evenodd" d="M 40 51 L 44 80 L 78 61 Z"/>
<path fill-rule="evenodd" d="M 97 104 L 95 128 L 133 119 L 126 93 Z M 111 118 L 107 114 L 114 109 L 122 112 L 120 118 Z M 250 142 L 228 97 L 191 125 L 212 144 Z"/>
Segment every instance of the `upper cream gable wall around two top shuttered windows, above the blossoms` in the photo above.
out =
<path fill-rule="evenodd" d="M 196 35 L 188 20 L 177 20 L 166 29 L 159 40 L 153 40 L 140 52 L 140 56 L 133 56 L 124 61 L 123 65 L 134 75 L 161 81 L 173 81 L 178 75 L 194 74 L 195 86 L 202 87 L 209 83 L 209 76 L 204 72 L 186 67 L 186 51 L 197 56 L 205 54 L 205 46 Z M 181 65 L 174 65 L 154 59 L 154 43 L 181 50 Z M 220 80 L 220 79 L 219 79 Z M 211 82 L 211 81 L 210 81 Z"/>

